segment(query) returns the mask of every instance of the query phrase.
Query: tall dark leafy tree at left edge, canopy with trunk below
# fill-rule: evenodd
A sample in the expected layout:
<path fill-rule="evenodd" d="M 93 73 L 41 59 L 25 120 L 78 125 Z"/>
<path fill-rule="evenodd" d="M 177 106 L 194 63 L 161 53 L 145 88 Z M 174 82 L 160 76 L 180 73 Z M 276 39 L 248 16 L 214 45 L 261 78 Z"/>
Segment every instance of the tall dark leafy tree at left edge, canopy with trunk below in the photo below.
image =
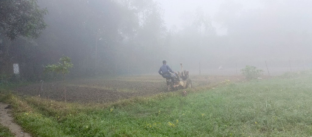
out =
<path fill-rule="evenodd" d="M 5 73 L 12 67 L 14 59 L 9 54 L 12 41 L 18 37 L 24 40 L 25 37 L 39 37 L 47 26 L 43 20 L 46 14 L 47 10 L 41 9 L 37 0 L 0 1 L 0 73 Z"/>

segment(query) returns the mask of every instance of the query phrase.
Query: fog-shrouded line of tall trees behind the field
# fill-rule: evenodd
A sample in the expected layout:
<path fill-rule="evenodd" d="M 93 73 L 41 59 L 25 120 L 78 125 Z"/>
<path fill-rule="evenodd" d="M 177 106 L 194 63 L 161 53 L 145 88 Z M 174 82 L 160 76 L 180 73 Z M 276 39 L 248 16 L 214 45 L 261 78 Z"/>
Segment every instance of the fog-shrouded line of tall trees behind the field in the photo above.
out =
<path fill-rule="evenodd" d="M 174 69 L 179 68 L 179 62 L 197 69 L 199 62 L 202 68 L 217 68 L 256 58 L 263 61 L 263 56 L 284 58 L 288 52 L 270 49 L 283 50 L 283 43 L 289 43 L 282 41 L 284 36 L 295 33 L 266 35 L 280 31 L 262 31 L 246 24 L 254 20 L 261 26 L 263 22 L 257 21 L 261 10 L 238 14 L 231 5 L 223 4 L 217 14 L 217 21 L 228 30 L 227 35 L 218 36 L 212 18 L 200 7 L 183 13 L 183 28 L 167 28 L 165 11 L 153 0 L 2 0 L 0 75 L 10 77 L 12 64 L 18 63 L 23 78 L 40 80 L 45 77 L 43 66 L 56 63 L 63 55 L 71 57 L 74 77 L 157 74 L 162 60 Z M 311 43 L 311 35 L 305 33 L 295 35 L 302 36 L 302 48 Z M 258 37 L 260 34 L 265 40 Z"/>

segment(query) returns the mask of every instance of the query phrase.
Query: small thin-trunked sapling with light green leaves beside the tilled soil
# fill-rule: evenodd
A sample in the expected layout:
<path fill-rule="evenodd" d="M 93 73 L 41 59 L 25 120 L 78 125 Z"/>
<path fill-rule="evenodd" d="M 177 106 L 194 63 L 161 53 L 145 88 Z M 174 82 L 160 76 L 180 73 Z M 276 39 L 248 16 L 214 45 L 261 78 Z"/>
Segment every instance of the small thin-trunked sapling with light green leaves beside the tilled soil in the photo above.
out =
<path fill-rule="evenodd" d="M 65 103 L 66 103 L 66 87 L 65 87 L 65 74 L 69 73 L 69 68 L 73 67 L 71 63 L 71 58 L 68 56 L 63 56 L 60 58 L 60 62 L 58 64 L 48 64 L 44 66 L 45 72 L 56 72 L 57 74 L 62 73 L 63 75 L 63 82 L 64 82 L 64 95 L 65 95 Z"/>

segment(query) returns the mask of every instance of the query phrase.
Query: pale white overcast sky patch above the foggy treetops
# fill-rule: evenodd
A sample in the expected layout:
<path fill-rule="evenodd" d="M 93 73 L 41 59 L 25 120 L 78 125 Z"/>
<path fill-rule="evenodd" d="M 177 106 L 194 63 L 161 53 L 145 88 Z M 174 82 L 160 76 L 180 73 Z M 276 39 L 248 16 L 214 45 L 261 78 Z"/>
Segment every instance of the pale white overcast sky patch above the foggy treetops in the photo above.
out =
<path fill-rule="evenodd" d="M 159 2 L 164 12 L 164 20 L 168 28 L 176 25 L 182 28 L 181 16 L 184 12 L 195 12 L 198 7 L 207 13 L 212 19 L 212 25 L 216 27 L 218 35 L 226 35 L 227 29 L 215 21 L 216 13 L 220 11 L 222 4 L 235 3 L 241 6 L 242 10 L 249 10 L 263 7 L 262 2 L 257 0 L 155 0 Z"/>

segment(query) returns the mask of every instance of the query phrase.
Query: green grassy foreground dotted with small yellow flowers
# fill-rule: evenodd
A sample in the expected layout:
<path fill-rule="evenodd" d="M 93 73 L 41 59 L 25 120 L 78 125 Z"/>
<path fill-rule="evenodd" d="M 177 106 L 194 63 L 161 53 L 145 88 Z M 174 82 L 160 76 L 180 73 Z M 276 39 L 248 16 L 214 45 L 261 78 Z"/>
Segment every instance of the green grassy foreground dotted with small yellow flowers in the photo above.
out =
<path fill-rule="evenodd" d="M 231 83 L 111 104 L 4 94 L 34 136 L 311 136 L 312 74 Z"/>

